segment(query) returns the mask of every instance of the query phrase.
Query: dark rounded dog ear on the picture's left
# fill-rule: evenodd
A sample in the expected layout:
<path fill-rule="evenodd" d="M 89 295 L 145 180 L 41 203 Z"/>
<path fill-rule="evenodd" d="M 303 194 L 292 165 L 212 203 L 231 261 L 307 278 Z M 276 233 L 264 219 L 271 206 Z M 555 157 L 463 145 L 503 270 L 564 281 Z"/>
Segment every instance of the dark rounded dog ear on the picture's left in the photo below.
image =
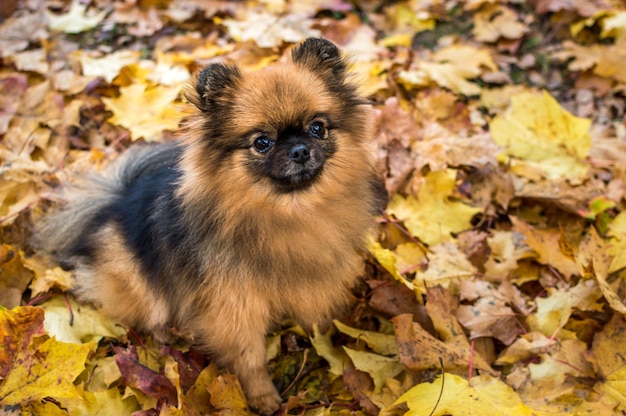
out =
<path fill-rule="evenodd" d="M 214 110 L 223 102 L 231 101 L 231 92 L 241 80 L 241 72 L 236 65 L 211 64 L 206 66 L 196 78 L 198 93 L 196 106 L 202 111 Z"/>

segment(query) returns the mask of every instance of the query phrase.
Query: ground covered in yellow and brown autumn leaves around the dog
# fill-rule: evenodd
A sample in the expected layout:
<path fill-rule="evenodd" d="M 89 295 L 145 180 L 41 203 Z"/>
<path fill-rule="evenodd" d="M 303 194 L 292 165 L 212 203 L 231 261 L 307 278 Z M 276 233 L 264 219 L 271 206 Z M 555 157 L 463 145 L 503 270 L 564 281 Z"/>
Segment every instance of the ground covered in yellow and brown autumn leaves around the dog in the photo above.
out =
<path fill-rule="evenodd" d="M 28 236 L 63 181 L 170 139 L 195 70 L 308 36 L 353 56 L 390 202 L 352 314 L 268 338 L 281 413 L 626 413 L 623 2 L 4 0 L 0 19 L 4 414 L 249 413 L 210 357 L 77 304 Z"/>

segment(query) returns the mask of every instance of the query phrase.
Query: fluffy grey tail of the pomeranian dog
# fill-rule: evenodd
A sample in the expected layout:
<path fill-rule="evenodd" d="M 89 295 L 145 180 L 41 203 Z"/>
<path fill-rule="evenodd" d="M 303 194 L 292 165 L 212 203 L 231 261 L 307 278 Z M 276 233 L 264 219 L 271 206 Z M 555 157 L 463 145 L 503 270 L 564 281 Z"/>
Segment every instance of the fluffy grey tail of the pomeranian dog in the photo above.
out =
<path fill-rule="evenodd" d="M 35 225 L 33 245 L 67 262 L 72 249 L 90 224 L 137 179 L 160 169 L 175 168 L 177 143 L 137 145 L 101 173 L 89 173 L 64 184 L 60 206 Z"/>

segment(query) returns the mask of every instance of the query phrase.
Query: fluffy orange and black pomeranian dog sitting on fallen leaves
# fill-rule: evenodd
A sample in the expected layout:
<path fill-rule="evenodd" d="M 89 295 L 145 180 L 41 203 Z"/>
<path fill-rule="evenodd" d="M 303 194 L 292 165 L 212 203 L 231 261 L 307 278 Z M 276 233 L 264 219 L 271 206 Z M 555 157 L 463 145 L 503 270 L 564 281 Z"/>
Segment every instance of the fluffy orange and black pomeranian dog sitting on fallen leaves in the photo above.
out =
<path fill-rule="evenodd" d="M 186 95 L 180 140 L 75 184 L 40 242 L 74 269 L 80 300 L 164 342 L 185 335 L 271 414 L 266 332 L 328 326 L 363 270 L 385 198 L 372 109 L 322 39 L 258 72 L 211 64 Z"/>

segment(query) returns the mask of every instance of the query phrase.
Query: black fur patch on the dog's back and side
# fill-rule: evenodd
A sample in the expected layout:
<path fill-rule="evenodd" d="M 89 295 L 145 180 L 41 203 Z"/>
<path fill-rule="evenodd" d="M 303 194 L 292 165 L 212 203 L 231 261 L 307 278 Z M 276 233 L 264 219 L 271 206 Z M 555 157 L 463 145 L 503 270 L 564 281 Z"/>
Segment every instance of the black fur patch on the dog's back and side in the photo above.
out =
<path fill-rule="evenodd" d="M 178 170 L 181 146 L 153 145 L 153 153 L 159 152 L 159 147 L 171 152 L 169 163 L 152 168 L 146 166 L 142 171 L 134 170 L 121 178 L 124 191 L 92 220 L 69 254 L 92 262 L 98 250 L 106 249 L 93 236 L 101 227 L 113 222 L 125 237 L 133 257 L 140 262 L 149 283 L 155 290 L 168 293 L 181 282 L 198 282 L 201 271 L 195 254 L 210 239 L 211 230 L 205 228 L 199 235 L 199 230 L 190 229 L 182 218 L 180 200 L 174 195 L 181 176 Z M 136 164 L 141 162 L 135 161 Z M 175 276 L 184 276 L 184 279 L 177 281 Z"/>

